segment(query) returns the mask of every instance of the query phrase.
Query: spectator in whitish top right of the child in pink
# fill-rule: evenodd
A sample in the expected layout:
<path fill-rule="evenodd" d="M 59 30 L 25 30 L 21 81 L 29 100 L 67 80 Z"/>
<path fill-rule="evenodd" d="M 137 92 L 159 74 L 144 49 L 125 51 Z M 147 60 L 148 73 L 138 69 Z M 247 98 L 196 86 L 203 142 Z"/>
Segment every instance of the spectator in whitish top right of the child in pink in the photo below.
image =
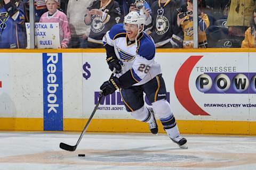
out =
<path fill-rule="evenodd" d="M 90 25 L 84 23 L 84 16 L 89 5 L 90 1 L 84 0 L 69 0 L 68 2 L 67 17 L 71 32 L 70 48 L 87 48 Z"/>

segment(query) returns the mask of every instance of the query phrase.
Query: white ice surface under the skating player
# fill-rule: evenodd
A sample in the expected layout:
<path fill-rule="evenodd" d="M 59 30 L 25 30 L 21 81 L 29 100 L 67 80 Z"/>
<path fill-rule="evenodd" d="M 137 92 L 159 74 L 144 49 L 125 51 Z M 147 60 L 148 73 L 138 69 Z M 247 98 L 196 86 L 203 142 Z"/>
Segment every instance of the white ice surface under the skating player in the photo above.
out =
<path fill-rule="evenodd" d="M 256 169 L 256 137 L 184 134 L 180 149 L 165 134 L 0 131 L 0 169 Z M 85 154 L 85 157 L 78 157 Z"/>

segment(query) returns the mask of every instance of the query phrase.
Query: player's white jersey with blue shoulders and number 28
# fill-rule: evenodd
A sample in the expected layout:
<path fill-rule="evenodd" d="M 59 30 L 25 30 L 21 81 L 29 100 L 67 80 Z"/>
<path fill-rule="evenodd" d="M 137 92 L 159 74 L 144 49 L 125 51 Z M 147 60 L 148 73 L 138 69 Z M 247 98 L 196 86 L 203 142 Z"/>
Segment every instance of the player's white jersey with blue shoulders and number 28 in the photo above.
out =
<path fill-rule="evenodd" d="M 155 62 L 156 48 L 153 39 L 146 32 L 142 32 L 137 39 L 138 48 L 135 41 L 127 38 L 123 24 L 114 25 L 102 39 L 104 45 L 114 46 L 122 66 L 122 72 L 116 77 L 130 71 L 137 82 L 133 86 L 145 84 L 162 73 L 160 64 Z"/>

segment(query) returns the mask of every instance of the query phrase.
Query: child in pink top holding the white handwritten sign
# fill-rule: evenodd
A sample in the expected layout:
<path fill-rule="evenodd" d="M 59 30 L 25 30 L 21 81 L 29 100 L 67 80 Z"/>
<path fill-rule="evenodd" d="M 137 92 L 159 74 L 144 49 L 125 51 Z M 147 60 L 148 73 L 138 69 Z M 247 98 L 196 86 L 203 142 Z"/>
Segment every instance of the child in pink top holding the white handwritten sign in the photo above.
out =
<path fill-rule="evenodd" d="M 70 30 L 68 19 L 65 13 L 59 11 L 58 0 L 46 0 L 48 12 L 45 12 L 40 19 L 40 22 L 58 22 L 60 28 L 60 46 L 67 48 L 70 40 Z"/>

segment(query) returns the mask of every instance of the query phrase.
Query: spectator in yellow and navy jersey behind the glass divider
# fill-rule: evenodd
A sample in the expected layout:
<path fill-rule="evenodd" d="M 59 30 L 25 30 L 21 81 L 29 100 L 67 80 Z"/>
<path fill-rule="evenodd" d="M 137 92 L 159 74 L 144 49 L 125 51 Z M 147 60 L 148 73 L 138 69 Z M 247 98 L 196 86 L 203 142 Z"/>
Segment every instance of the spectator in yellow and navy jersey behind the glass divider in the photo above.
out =
<path fill-rule="evenodd" d="M 183 31 L 183 48 L 193 48 L 194 43 L 194 33 L 193 33 L 193 0 L 188 0 L 187 2 L 187 13 L 185 17 L 184 13 L 179 13 L 177 17 L 177 24 Z M 198 6 L 200 6 L 198 2 Z M 180 16 L 181 15 L 181 16 Z M 210 22 L 207 14 L 203 11 L 198 10 L 198 47 L 206 48 L 207 39 L 205 34 L 205 29 L 209 27 Z"/>

